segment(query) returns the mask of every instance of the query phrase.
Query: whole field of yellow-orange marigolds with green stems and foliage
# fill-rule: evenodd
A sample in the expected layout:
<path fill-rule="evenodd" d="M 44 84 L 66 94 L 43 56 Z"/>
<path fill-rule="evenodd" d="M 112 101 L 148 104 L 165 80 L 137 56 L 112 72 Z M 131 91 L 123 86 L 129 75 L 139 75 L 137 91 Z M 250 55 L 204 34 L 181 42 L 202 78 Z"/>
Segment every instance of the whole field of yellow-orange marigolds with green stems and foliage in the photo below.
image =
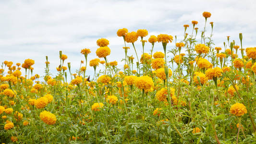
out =
<path fill-rule="evenodd" d="M 109 61 L 110 42 L 100 38 L 95 59 L 89 48 L 77 51 L 75 73 L 62 51 L 56 75 L 47 56 L 44 75 L 34 60 L 3 61 L 0 143 L 256 144 L 256 47 L 244 48 L 242 33 L 215 46 L 211 13 L 202 16 L 202 28 L 183 25 L 181 41 L 119 29 L 123 60 Z"/>

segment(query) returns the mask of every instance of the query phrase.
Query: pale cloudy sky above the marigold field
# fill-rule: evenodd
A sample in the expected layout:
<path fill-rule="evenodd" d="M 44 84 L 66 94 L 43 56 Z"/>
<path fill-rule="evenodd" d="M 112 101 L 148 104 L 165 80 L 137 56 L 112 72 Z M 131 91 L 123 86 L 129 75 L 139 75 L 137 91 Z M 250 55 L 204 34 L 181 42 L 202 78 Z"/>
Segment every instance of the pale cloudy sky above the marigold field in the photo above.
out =
<path fill-rule="evenodd" d="M 191 33 L 191 21 L 196 20 L 199 33 L 203 30 L 204 11 L 212 14 L 207 20 L 207 35 L 208 22 L 214 22 L 216 46 L 223 48 L 226 36 L 238 43 L 239 33 L 243 33 L 244 47 L 255 47 L 255 4 L 255 0 L 0 0 L 0 61 L 22 63 L 33 59 L 34 72 L 43 75 L 48 56 L 51 73 L 56 73 L 62 50 L 74 71 L 84 60 L 81 49 L 91 49 L 88 60 L 96 58 L 98 38 L 110 41 L 108 59 L 120 61 L 124 44 L 116 36 L 118 29 L 147 29 L 147 38 L 162 33 L 176 35 L 179 41 L 184 33 L 183 24 L 190 24 L 187 32 Z M 141 55 L 140 42 L 135 46 Z M 146 44 L 146 52 L 150 47 Z M 171 47 L 173 43 L 168 49 Z M 159 50 L 162 46 L 156 44 L 154 51 Z M 132 54 L 134 49 L 128 51 L 128 55 Z M 119 65 L 122 67 L 122 62 Z M 92 74 L 93 68 L 87 71 Z"/>

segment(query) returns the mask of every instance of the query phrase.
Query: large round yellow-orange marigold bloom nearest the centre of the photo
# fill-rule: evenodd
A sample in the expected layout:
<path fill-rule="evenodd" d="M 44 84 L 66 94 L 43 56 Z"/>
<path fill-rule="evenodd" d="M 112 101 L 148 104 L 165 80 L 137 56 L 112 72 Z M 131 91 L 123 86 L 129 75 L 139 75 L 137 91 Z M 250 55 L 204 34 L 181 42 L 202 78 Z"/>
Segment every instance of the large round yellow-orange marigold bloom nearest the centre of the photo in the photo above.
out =
<path fill-rule="evenodd" d="M 134 82 L 135 86 L 145 92 L 151 91 L 151 88 L 154 86 L 153 80 L 149 76 L 137 77 Z"/>

